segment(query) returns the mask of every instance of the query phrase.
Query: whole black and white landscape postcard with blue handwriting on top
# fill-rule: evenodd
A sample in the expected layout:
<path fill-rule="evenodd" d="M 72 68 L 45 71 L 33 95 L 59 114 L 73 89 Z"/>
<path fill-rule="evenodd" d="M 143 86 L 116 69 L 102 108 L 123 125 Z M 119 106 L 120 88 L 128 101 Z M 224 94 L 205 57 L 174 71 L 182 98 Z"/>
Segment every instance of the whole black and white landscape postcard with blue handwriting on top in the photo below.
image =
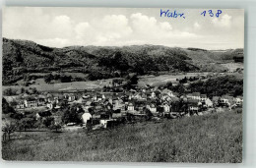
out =
<path fill-rule="evenodd" d="M 5 7 L 2 159 L 241 163 L 244 10 Z"/>

